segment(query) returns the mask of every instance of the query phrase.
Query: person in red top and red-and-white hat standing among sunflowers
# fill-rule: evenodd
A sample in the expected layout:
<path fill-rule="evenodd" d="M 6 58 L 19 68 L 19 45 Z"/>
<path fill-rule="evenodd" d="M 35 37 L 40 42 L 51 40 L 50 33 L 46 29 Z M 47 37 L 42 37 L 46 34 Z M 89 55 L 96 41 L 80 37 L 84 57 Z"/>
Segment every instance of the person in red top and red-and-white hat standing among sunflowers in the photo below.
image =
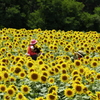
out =
<path fill-rule="evenodd" d="M 28 46 L 27 56 L 31 56 L 33 60 L 37 60 L 37 57 L 42 54 L 41 48 L 36 46 L 37 40 L 32 39 L 30 45 Z"/>

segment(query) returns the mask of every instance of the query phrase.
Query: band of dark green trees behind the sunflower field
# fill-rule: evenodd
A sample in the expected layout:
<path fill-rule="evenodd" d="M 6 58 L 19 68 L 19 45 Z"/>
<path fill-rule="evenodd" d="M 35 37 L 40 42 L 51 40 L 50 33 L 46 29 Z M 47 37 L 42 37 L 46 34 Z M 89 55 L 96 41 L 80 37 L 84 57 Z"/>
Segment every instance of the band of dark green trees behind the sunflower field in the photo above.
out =
<path fill-rule="evenodd" d="M 0 28 L 100 31 L 99 0 L 0 0 Z"/>

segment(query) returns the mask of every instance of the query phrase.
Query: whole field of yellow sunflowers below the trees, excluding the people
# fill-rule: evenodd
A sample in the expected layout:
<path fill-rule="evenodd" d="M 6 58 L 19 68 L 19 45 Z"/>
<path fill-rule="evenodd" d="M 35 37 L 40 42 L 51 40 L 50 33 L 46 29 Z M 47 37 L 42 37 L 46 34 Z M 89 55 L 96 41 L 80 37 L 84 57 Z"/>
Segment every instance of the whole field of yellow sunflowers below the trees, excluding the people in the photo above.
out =
<path fill-rule="evenodd" d="M 26 56 L 32 39 L 45 53 L 36 61 Z M 78 50 L 85 56 L 73 62 Z M 0 100 L 100 100 L 100 34 L 3 28 Z"/>

